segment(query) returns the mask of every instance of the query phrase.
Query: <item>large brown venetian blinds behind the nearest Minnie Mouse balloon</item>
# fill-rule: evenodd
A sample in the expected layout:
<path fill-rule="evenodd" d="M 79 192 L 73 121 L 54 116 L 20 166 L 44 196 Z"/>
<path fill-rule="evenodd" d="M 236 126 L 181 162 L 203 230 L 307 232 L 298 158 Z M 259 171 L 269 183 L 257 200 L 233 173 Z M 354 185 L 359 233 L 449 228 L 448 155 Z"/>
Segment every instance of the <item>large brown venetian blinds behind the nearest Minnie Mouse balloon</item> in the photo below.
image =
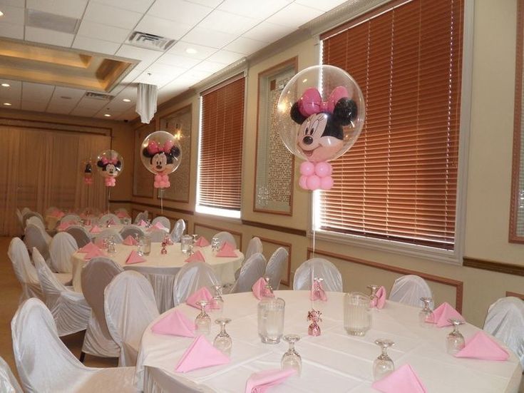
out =
<path fill-rule="evenodd" d="M 321 228 L 453 249 L 463 1 L 391 7 L 321 37 L 324 63 L 366 101 L 359 139 L 332 162 Z"/>

